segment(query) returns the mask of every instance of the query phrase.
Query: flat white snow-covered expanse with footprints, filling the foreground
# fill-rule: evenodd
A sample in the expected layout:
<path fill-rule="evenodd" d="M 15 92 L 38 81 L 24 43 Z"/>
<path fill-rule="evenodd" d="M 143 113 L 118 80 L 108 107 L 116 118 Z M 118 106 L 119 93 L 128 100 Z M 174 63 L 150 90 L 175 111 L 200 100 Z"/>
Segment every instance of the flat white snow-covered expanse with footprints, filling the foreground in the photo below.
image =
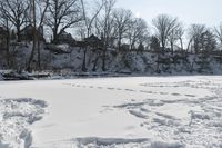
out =
<path fill-rule="evenodd" d="M 220 76 L 2 81 L 0 110 L 2 148 L 222 147 Z"/>

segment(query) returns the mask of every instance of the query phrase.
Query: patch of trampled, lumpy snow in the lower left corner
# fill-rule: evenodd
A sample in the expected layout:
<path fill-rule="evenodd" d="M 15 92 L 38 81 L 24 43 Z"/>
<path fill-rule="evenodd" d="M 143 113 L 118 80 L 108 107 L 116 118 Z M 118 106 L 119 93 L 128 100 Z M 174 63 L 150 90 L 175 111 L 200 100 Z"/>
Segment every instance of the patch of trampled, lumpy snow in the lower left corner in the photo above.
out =
<path fill-rule="evenodd" d="M 29 148 L 32 144 L 29 126 L 42 118 L 46 107 L 42 100 L 1 99 L 0 147 Z"/>

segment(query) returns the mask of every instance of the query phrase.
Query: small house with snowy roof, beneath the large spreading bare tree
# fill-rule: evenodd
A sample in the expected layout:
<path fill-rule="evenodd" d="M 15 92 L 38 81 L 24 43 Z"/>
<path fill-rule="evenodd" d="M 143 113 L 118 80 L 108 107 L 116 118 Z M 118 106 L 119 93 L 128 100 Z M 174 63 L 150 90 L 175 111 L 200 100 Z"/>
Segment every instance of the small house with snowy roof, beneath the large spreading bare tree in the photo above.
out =
<path fill-rule="evenodd" d="M 72 38 L 71 33 L 61 31 L 58 36 L 57 43 L 75 45 L 75 40 Z"/>

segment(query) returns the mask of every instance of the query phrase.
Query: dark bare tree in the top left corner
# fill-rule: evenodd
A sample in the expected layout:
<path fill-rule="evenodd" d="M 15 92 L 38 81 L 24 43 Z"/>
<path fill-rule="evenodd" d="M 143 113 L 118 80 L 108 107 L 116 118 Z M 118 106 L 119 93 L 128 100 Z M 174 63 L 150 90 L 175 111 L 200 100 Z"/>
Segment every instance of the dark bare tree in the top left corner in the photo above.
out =
<path fill-rule="evenodd" d="M 29 4 L 27 0 L 1 0 L 0 9 L 17 29 L 18 41 L 21 41 L 21 29 L 28 17 Z"/>

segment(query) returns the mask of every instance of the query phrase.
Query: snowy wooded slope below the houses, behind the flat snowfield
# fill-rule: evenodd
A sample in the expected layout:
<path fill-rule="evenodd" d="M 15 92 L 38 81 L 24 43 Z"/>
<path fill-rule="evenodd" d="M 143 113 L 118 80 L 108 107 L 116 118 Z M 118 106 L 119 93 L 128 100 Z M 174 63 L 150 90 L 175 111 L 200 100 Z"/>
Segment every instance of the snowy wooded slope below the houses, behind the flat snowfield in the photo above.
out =
<path fill-rule="evenodd" d="M 54 46 L 54 45 L 53 45 Z M 54 49 L 63 52 L 41 50 L 41 69 L 54 72 L 70 71 L 82 72 L 84 50 L 68 45 L 57 45 Z M 22 71 L 27 67 L 31 51 L 31 45 L 26 43 L 13 49 L 13 63 L 10 68 Z M 37 66 L 34 56 L 32 67 Z M 0 58 L 0 68 L 6 69 L 6 60 Z M 138 75 L 220 75 L 222 73 L 222 58 L 218 55 L 181 55 L 164 53 L 158 58 L 157 53 L 144 52 L 119 52 L 109 49 L 107 52 L 107 72 L 131 72 Z M 89 49 L 85 55 L 87 72 L 102 72 L 102 52 Z"/>

